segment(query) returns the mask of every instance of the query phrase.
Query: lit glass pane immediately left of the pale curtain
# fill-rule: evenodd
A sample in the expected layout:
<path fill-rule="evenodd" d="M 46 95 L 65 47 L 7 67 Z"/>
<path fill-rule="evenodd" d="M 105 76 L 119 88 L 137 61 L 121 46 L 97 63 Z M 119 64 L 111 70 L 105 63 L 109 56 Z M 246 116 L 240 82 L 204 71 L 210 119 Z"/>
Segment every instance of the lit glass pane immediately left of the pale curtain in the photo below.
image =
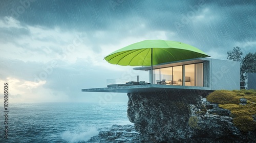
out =
<path fill-rule="evenodd" d="M 185 85 L 195 86 L 195 64 L 185 65 Z"/>

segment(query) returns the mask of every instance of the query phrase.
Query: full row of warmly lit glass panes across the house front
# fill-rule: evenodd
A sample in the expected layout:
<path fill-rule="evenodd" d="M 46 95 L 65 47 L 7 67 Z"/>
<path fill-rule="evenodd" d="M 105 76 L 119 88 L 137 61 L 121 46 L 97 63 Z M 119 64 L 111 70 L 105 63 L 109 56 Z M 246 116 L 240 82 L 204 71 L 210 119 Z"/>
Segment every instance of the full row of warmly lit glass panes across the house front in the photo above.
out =
<path fill-rule="evenodd" d="M 203 63 L 154 69 L 154 84 L 203 86 Z"/>

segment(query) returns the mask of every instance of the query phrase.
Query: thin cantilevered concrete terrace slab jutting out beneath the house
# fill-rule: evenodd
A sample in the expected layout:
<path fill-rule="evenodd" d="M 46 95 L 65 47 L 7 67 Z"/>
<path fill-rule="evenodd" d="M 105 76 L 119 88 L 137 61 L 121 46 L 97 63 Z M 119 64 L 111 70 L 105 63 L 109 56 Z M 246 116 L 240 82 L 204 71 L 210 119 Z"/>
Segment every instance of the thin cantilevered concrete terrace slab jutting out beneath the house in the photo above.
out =
<path fill-rule="evenodd" d="M 82 89 L 83 92 L 118 92 L 118 93 L 167 92 L 167 91 L 174 91 L 174 90 L 208 90 L 208 91 L 211 91 L 209 87 L 161 85 L 161 84 L 112 86 L 112 87 L 103 87 L 103 88 Z"/>

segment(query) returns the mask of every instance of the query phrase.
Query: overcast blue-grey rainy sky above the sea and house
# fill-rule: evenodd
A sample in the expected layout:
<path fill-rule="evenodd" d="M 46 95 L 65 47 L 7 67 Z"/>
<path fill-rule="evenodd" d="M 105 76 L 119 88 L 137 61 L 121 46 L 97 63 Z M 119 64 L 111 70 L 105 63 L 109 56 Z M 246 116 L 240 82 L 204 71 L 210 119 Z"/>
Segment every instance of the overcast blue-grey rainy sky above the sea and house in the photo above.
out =
<path fill-rule="evenodd" d="M 0 89 L 9 84 L 10 102 L 127 102 L 125 93 L 81 92 L 106 79 L 148 82 L 145 71 L 106 55 L 146 39 L 184 42 L 217 59 L 234 46 L 254 53 L 255 13 L 254 0 L 1 0 Z"/>

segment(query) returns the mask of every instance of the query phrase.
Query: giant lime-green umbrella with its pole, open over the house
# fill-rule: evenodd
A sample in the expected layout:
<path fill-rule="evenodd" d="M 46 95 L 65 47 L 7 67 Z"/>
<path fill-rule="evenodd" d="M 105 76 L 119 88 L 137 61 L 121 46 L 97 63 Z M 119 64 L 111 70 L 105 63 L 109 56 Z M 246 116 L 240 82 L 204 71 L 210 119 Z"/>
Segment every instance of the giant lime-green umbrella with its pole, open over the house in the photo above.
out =
<path fill-rule="evenodd" d="M 111 64 L 151 66 L 160 63 L 210 57 L 194 46 L 166 40 L 144 40 L 119 49 L 104 59 Z M 153 72 L 152 72 L 153 81 Z"/>

